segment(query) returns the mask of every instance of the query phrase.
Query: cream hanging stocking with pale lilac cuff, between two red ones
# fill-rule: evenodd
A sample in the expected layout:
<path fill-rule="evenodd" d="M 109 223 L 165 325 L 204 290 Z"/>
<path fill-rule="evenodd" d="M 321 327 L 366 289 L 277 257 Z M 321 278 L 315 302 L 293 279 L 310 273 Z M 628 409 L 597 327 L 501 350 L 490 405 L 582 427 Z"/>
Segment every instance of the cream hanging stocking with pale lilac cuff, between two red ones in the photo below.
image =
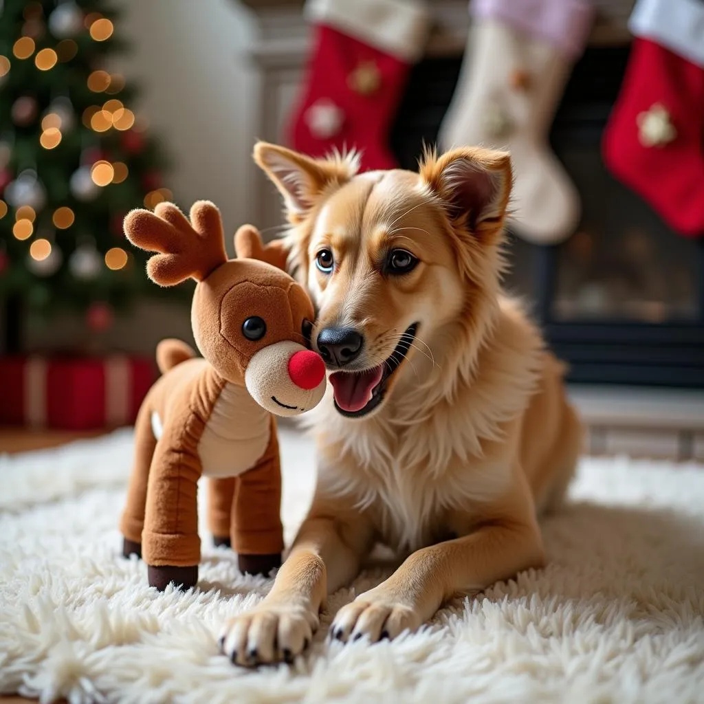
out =
<path fill-rule="evenodd" d="M 588 0 L 473 0 L 472 32 L 440 141 L 511 152 L 511 229 L 548 244 L 569 237 L 579 196 L 548 146 L 572 62 L 589 34 Z"/>

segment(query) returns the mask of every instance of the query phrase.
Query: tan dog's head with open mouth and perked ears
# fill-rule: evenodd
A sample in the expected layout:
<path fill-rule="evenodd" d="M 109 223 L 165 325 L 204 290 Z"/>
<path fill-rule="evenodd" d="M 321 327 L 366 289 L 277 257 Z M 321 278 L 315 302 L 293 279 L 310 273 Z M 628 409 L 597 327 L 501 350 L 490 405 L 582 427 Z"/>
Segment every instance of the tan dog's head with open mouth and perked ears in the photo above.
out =
<path fill-rule="evenodd" d="M 501 275 L 508 153 L 427 153 L 417 173 L 357 174 L 353 155 L 265 143 L 254 158 L 284 197 L 289 265 L 318 309 L 312 341 L 342 415 L 381 408 L 417 378 L 407 366 L 417 375 L 459 346 L 479 348 Z"/>

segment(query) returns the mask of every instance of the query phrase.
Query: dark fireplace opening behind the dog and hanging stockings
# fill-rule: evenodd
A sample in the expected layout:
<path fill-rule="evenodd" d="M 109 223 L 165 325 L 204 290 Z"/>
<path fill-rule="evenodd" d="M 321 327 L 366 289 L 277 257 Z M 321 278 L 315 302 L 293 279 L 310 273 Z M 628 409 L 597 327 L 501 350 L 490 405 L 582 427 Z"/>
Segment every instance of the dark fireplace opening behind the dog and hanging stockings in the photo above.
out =
<path fill-rule="evenodd" d="M 534 303 L 572 382 L 704 388 L 704 239 L 667 225 L 601 160 L 601 133 L 628 46 L 590 46 L 575 65 L 551 144 L 582 196 L 582 222 L 557 246 L 510 237 L 510 291 Z M 403 168 L 436 141 L 460 58 L 427 58 L 391 135 Z"/>

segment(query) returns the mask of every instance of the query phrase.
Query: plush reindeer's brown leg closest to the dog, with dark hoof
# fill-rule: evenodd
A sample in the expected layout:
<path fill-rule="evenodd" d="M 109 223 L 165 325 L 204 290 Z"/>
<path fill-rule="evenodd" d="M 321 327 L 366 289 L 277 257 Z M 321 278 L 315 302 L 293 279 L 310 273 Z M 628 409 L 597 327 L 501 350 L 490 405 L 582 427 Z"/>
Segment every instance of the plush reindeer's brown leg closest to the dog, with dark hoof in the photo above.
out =
<path fill-rule="evenodd" d="M 239 569 L 269 574 L 281 565 L 284 529 L 281 524 L 281 467 L 276 426 L 272 420 L 269 446 L 256 467 L 237 477 L 232 505 L 232 547 Z"/>

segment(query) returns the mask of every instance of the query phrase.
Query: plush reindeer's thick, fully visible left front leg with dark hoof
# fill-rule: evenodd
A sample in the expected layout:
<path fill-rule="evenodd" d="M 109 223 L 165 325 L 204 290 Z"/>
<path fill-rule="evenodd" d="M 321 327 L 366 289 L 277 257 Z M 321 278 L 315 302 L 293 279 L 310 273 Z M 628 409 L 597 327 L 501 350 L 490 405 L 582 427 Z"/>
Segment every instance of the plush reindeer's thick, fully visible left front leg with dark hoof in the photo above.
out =
<path fill-rule="evenodd" d="M 149 472 L 142 550 L 149 565 L 149 584 L 160 590 L 169 582 L 188 589 L 198 581 L 201 463 L 196 448 L 187 441 L 199 436 L 193 430 L 165 429 Z"/>

